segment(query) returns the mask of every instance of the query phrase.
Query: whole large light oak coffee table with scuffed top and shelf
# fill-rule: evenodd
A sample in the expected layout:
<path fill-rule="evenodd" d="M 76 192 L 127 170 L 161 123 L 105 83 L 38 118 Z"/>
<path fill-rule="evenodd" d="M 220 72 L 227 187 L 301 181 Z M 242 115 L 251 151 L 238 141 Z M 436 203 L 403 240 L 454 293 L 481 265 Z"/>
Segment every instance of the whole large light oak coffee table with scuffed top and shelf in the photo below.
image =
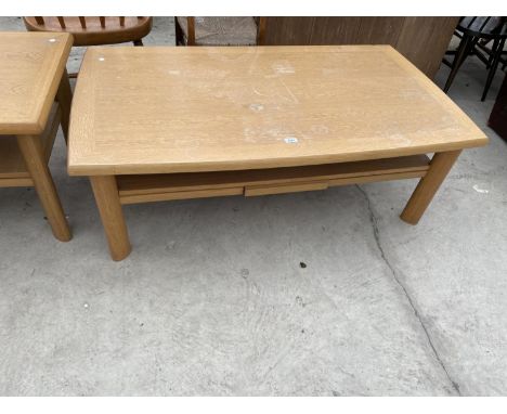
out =
<path fill-rule="evenodd" d="M 415 224 L 460 151 L 486 142 L 387 46 L 91 48 L 68 171 L 90 177 L 121 260 L 126 204 L 420 178 L 401 215 Z"/>

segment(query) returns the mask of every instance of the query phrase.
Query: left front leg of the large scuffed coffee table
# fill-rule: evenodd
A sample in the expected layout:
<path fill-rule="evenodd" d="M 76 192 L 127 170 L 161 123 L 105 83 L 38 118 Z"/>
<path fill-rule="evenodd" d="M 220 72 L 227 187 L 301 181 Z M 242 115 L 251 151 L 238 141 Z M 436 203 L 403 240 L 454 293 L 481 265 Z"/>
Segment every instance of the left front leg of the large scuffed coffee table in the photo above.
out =
<path fill-rule="evenodd" d="M 90 177 L 96 206 L 113 260 L 122 260 L 131 251 L 127 224 L 121 210 L 115 176 Z"/>

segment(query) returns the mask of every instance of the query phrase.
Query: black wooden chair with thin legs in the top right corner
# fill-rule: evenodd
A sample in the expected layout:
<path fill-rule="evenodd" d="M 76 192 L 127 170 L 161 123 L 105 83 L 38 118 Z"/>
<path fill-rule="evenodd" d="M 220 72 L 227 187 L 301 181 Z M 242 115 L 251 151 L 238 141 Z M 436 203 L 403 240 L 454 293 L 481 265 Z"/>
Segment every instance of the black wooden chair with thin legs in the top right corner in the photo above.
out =
<path fill-rule="evenodd" d="M 444 60 L 444 63 L 451 66 L 447 81 L 445 82 L 444 92 L 447 92 L 456 77 L 456 74 L 465 62 L 467 56 L 477 55 L 489 69 L 484 90 L 481 101 L 484 101 L 491 82 L 495 76 L 496 69 L 503 60 L 504 46 L 507 39 L 507 20 L 506 17 L 463 17 L 454 33 L 461 40 L 455 52 L 446 54 L 455 54 L 452 64 Z M 490 48 L 487 44 L 493 42 Z"/>

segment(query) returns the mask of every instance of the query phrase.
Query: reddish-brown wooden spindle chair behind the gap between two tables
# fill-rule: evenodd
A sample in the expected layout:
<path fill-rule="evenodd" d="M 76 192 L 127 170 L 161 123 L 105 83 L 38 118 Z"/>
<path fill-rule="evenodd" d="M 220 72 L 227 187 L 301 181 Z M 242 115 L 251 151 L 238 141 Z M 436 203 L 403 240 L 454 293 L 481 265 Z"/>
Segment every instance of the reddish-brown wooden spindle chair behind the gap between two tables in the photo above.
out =
<path fill-rule="evenodd" d="M 29 31 L 66 31 L 74 46 L 98 46 L 133 42 L 152 30 L 152 17 L 23 17 Z"/>

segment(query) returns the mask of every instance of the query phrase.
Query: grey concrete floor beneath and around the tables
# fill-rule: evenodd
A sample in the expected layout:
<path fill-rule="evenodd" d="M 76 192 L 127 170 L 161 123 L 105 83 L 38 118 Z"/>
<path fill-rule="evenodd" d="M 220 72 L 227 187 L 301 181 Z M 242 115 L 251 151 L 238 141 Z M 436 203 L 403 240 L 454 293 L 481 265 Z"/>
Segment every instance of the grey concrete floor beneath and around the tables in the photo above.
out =
<path fill-rule="evenodd" d="M 172 20 L 146 43 L 173 44 Z M 472 59 L 450 94 L 491 144 L 417 227 L 399 219 L 414 180 L 139 205 L 113 262 L 58 134 L 70 243 L 34 190 L 1 190 L 0 394 L 506 394 L 507 145 L 486 127 L 502 75 L 481 103 L 484 78 Z"/>

